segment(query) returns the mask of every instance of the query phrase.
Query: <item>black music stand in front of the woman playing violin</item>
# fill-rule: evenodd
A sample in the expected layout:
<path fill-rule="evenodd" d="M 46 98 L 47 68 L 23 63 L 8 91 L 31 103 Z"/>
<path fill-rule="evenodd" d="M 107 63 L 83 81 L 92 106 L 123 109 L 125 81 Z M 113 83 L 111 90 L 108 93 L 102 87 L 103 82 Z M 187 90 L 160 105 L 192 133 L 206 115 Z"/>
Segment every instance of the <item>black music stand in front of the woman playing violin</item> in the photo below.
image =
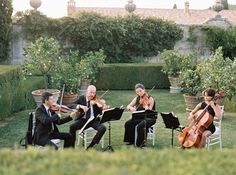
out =
<path fill-rule="evenodd" d="M 151 118 L 151 119 L 157 119 L 157 111 L 154 110 L 141 110 L 141 111 L 136 111 L 132 113 L 132 120 L 141 120 L 144 121 L 144 139 L 143 139 L 143 144 L 141 146 L 145 146 L 147 143 L 147 137 L 146 137 L 146 132 L 147 132 L 147 127 L 146 127 L 146 119 Z M 135 143 L 136 146 L 136 143 Z"/>

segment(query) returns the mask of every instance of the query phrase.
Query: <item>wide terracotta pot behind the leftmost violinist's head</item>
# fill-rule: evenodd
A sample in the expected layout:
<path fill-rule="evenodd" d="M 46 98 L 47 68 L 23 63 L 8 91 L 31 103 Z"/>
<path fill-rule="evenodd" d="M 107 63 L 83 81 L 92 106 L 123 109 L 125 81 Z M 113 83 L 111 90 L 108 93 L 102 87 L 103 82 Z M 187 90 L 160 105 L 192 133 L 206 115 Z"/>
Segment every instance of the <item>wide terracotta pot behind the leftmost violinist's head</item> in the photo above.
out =
<path fill-rule="evenodd" d="M 44 92 L 52 93 L 54 102 L 57 102 L 61 93 L 61 91 L 59 91 L 58 89 L 38 89 L 38 90 L 33 91 L 31 94 L 34 97 L 34 101 L 36 102 L 37 106 L 40 106 L 42 104 L 42 94 Z"/>

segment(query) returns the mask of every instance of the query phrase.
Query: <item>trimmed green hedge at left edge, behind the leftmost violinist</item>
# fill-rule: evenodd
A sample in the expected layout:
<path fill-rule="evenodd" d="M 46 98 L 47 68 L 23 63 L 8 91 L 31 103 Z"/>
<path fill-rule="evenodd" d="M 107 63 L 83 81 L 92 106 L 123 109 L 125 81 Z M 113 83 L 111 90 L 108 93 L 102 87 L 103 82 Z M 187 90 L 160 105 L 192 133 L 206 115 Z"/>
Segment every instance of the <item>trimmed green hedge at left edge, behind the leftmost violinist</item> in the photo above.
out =
<path fill-rule="evenodd" d="M 0 66 L 0 120 L 14 112 L 36 107 L 31 91 L 42 88 L 44 79 L 23 80 L 19 66 Z"/>

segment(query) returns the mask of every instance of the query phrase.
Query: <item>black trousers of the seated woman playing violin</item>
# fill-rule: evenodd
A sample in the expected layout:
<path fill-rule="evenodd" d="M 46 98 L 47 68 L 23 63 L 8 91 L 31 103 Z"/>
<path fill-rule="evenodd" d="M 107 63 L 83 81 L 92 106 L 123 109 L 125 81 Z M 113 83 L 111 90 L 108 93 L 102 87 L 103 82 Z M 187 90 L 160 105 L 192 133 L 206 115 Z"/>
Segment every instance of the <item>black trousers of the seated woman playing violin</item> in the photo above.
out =
<path fill-rule="evenodd" d="M 144 135 L 144 127 L 146 122 L 146 133 Z M 124 134 L 124 142 L 134 143 L 135 140 L 135 126 L 137 126 L 137 146 L 142 146 L 144 143 L 144 136 L 147 138 L 148 129 L 156 123 L 155 119 L 147 118 L 144 120 L 128 120 L 125 123 L 125 134 Z"/>

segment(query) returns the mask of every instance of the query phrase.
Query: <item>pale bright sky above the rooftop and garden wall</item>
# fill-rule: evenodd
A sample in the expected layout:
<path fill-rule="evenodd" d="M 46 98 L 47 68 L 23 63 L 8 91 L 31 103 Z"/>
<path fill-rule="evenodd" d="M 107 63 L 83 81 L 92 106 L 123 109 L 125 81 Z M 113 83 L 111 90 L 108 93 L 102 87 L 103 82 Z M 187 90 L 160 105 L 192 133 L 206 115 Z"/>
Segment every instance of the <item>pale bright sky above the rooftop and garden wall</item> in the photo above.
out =
<path fill-rule="evenodd" d="M 15 14 L 17 11 L 33 9 L 30 0 L 12 0 Z M 48 17 L 58 18 L 67 15 L 68 0 L 41 0 L 42 5 L 38 8 Z M 77 7 L 121 7 L 127 4 L 127 0 L 75 0 Z M 165 8 L 171 9 L 174 4 L 178 9 L 184 8 L 185 0 L 133 0 L 137 8 Z M 190 9 L 207 9 L 215 0 L 188 0 Z M 229 4 L 235 4 L 236 0 L 228 0 Z"/>

